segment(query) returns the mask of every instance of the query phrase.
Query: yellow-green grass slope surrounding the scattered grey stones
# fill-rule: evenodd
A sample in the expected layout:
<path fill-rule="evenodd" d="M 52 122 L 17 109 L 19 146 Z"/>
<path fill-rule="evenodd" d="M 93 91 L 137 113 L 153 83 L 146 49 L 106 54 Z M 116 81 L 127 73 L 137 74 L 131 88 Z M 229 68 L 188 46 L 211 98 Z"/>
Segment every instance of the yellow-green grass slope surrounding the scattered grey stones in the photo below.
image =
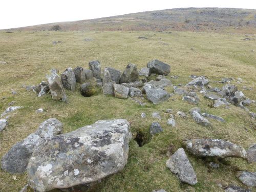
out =
<path fill-rule="evenodd" d="M 138 36 L 150 38 L 137 39 Z M 86 37 L 95 40 L 84 41 Z M 66 104 L 52 102 L 50 95 L 38 98 L 36 94 L 22 88 L 23 84 L 37 84 L 44 80 L 51 68 L 57 68 L 60 72 L 67 67 L 88 68 L 90 60 L 98 59 L 102 68 L 109 66 L 123 70 L 128 62 L 133 62 L 140 69 L 146 66 L 147 61 L 158 58 L 171 65 L 170 75 L 180 76 L 178 79 L 168 77 L 173 84 L 185 84 L 190 80 L 190 74 L 196 74 L 206 75 L 211 80 L 211 86 L 221 88 L 222 84 L 212 81 L 221 77 L 241 77 L 244 82 L 237 84 L 240 90 L 243 85 L 255 90 L 256 56 L 250 50 L 256 51 L 256 44 L 243 38 L 244 35 L 201 32 L 0 32 L 0 61 L 9 62 L 0 64 L 0 113 L 13 100 L 16 101 L 15 105 L 25 106 L 10 117 L 8 127 L 0 134 L 0 158 L 13 144 L 26 138 L 37 129 L 39 123 L 50 117 L 63 122 L 65 133 L 96 120 L 125 118 L 131 122 L 135 137 L 139 130 L 148 133 L 154 121 L 152 112 L 170 108 L 174 114 L 177 111 L 187 113 L 194 107 L 183 102 L 179 95 L 158 105 L 148 102 L 147 106 L 142 107 L 131 100 L 102 94 L 84 98 L 78 91 L 67 91 L 70 102 Z M 63 43 L 54 46 L 54 40 Z M 190 50 L 191 47 L 195 51 Z M 12 95 L 12 89 L 18 95 Z M 173 92 L 172 89 L 168 91 Z M 255 91 L 243 92 L 250 99 L 256 99 Z M 169 145 L 174 145 L 172 152 L 175 152 L 182 146 L 183 139 L 225 139 L 245 148 L 255 142 L 255 120 L 244 110 L 235 106 L 230 106 L 230 109 L 210 109 L 209 101 L 199 96 L 199 107 L 205 112 L 222 116 L 226 120 L 225 124 L 211 121 L 213 126 L 206 128 L 195 123 L 188 115 L 187 119 L 176 118 L 177 126 L 173 128 L 166 125 L 168 116 L 162 112 L 160 124 L 164 132 L 150 138 L 142 147 L 132 140 L 129 160 L 123 171 L 103 179 L 95 191 L 152 191 L 156 188 L 165 188 L 167 191 L 222 191 L 218 183 L 243 186 L 235 177 L 236 170 L 255 172 L 256 167 L 241 159 L 228 158 L 220 164 L 221 168 L 212 170 L 207 168 L 206 160 L 188 155 L 199 181 L 194 187 L 180 183 L 165 167 Z M 37 114 L 35 110 L 38 108 L 48 112 Z M 256 112 L 255 106 L 249 109 Z M 142 112 L 147 115 L 145 119 L 140 118 Z M 0 191 L 17 191 L 26 184 L 26 174 L 17 175 L 16 178 L 17 181 L 12 179 L 12 175 L 0 170 Z"/>

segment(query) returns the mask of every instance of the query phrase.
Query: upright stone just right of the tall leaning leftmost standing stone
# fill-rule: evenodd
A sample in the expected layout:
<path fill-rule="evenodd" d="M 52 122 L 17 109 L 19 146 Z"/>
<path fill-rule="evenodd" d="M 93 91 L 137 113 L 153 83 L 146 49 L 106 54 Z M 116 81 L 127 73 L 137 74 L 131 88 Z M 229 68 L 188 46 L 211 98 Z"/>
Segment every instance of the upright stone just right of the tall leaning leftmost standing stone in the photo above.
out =
<path fill-rule="evenodd" d="M 61 74 L 61 82 L 63 87 L 67 90 L 75 91 L 76 76 L 72 68 L 68 68 Z"/>

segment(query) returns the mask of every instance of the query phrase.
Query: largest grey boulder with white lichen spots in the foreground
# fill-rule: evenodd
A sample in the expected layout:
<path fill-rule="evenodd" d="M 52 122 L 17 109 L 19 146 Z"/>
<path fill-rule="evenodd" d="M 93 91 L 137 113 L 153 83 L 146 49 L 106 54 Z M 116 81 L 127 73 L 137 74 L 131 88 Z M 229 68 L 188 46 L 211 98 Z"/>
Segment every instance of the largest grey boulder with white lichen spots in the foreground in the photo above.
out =
<path fill-rule="evenodd" d="M 37 191 L 49 191 L 117 173 L 127 163 L 131 138 L 130 124 L 125 119 L 100 120 L 46 138 L 29 161 L 29 185 Z"/>

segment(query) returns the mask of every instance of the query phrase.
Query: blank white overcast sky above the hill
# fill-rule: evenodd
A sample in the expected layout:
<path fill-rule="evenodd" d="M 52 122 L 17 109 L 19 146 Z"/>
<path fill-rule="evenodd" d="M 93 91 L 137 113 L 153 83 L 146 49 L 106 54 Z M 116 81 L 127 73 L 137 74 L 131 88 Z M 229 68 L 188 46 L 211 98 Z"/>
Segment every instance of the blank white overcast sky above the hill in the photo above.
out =
<path fill-rule="evenodd" d="M 172 8 L 256 9 L 255 0 L 1 0 L 0 29 Z"/>

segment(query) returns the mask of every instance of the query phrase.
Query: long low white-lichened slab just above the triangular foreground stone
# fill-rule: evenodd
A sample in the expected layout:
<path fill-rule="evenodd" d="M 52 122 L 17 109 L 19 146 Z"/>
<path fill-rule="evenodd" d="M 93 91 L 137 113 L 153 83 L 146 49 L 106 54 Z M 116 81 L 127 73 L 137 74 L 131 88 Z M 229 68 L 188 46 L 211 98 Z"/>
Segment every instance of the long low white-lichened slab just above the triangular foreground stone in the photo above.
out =
<path fill-rule="evenodd" d="M 222 139 L 190 139 L 184 141 L 187 150 L 199 157 L 240 157 L 245 158 L 243 147 Z"/>

